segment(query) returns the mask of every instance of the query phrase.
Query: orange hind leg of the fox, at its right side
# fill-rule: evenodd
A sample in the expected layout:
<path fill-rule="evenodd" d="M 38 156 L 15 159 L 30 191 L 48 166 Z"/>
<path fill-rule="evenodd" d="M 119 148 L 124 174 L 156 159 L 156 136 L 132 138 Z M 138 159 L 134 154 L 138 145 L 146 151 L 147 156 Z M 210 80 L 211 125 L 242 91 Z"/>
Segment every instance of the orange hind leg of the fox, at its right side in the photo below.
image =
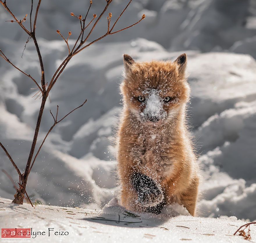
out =
<path fill-rule="evenodd" d="M 191 184 L 189 185 L 187 191 L 181 194 L 181 203 L 189 211 L 192 216 L 195 216 L 195 206 L 198 196 L 198 185 L 199 178 L 195 177 Z"/>

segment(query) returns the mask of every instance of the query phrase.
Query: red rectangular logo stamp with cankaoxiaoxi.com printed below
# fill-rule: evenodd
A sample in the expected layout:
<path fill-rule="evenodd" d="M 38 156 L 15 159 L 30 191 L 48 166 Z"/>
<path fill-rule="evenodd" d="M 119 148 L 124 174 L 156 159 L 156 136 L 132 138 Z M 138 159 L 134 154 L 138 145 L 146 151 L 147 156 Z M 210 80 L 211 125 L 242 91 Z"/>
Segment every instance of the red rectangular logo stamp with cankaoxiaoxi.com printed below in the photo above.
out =
<path fill-rule="evenodd" d="M 1 231 L 2 241 L 15 240 L 30 240 L 31 228 L 19 229 L 19 228 L 2 228 Z"/>

